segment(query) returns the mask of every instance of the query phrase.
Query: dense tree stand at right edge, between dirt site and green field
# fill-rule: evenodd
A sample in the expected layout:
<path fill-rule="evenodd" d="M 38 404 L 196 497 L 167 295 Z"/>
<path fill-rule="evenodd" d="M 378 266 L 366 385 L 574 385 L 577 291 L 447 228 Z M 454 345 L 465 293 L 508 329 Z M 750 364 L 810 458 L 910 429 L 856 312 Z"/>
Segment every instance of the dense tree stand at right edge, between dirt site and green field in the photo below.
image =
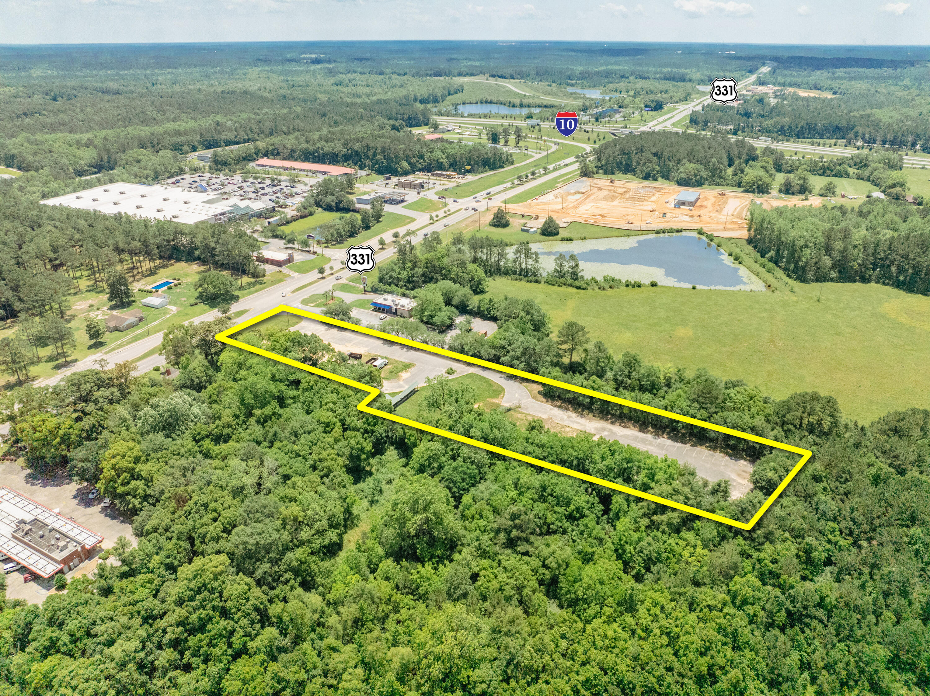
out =
<path fill-rule="evenodd" d="M 752 247 L 802 282 L 879 282 L 930 294 L 925 207 L 870 200 L 857 208 L 780 207 L 751 212 Z"/>

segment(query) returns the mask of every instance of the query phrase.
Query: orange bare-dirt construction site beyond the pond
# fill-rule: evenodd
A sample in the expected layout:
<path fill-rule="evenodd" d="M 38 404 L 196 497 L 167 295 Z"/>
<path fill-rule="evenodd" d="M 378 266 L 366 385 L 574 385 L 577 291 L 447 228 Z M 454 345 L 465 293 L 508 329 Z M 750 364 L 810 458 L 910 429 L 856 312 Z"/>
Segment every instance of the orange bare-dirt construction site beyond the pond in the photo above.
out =
<path fill-rule="evenodd" d="M 688 190 L 640 181 L 578 178 L 532 201 L 509 204 L 507 209 L 533 216 L 526 223 L 530 228 L 540 227 L 551 215 L 560 227 L 586 222 L 623 230 L 703 228 L 718 237 L 745 239 L 750 206 L 769 208 L 781 203 L 734 190 Z"/>

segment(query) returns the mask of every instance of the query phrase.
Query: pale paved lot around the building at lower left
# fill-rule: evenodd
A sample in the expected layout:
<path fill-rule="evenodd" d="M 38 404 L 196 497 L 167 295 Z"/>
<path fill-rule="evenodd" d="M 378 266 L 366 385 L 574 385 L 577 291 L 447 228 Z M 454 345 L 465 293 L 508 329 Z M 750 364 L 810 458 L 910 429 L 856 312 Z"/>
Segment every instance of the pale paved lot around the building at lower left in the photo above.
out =
<path fill-rule="evenodd" d="M 97 567 L 100 551 L 113 547 L 120 536 L 125 536 L 133 545 L 136 544 L 136 537 L 132 535 L 132 525 L 128 519 L 121 517 L 112 507 L 103 507 L 102 497 L 88 499 L 87 493 L 93 490 L 93 486 L 77 483 L 64 473 L 43 478 L 15 462 L 2 462 L 0 486 L 9 486 L 53 510 L 57 508 L 60 514 L 103 537 L 103 543 L 97 552 L 67 573 L 69 580 L 93 571 Z M 40 604 L 49 591 L 54 592 L 52 579 L 39 578 L 30 583 L 23 583 L 22 576 L 25 572 L 25 569 L 20 569 L 7 574 L 7 598 L 25 599 L 31 604 Z"/>

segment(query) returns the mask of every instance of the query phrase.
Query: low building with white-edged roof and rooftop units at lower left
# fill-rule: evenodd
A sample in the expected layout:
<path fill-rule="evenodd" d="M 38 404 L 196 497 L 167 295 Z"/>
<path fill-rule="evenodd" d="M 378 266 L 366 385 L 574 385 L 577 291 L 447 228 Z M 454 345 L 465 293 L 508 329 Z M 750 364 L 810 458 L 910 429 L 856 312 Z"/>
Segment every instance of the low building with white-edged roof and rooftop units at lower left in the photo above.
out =
<path fill-rule="evenodd" d="M 42 577 L 73 570 L 102 541 L 100 534 L 0 487 L 0 551 Z"/>

